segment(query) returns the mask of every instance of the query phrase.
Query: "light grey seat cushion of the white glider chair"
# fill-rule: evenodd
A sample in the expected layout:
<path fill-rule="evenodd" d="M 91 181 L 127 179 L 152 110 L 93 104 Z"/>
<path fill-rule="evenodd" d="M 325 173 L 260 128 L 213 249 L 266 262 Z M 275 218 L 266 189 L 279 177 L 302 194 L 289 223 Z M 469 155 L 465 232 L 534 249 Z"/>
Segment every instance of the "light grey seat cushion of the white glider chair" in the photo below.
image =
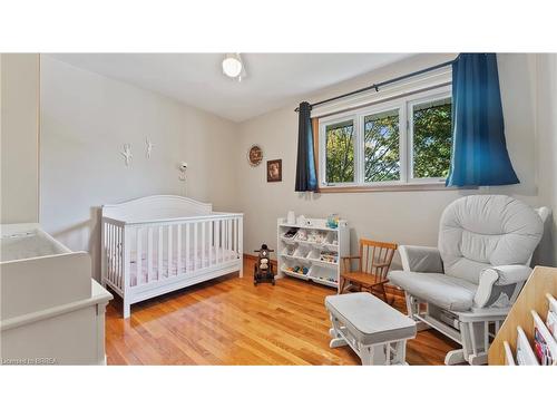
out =
<path fill-rule="evenodd" d="M 408 293 L 451 311 L 468 311 L 478 289 L 468 280 L 441 273 L 392 271 L 389 279 Z"/>

